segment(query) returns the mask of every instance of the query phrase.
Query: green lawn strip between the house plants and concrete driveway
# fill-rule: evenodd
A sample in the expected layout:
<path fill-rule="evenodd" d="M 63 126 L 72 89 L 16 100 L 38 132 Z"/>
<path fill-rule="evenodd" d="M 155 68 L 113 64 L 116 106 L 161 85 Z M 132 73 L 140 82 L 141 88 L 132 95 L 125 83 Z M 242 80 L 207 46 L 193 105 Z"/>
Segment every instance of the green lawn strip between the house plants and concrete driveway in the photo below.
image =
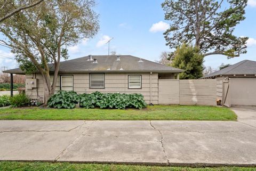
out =
<path fill-rule="evenodd" d="M 236 120 L 233 111 L 223 107 L 198 105 L 155 105 L 146 109 L 0 109 L 0 119 L 21 120 Z"/>

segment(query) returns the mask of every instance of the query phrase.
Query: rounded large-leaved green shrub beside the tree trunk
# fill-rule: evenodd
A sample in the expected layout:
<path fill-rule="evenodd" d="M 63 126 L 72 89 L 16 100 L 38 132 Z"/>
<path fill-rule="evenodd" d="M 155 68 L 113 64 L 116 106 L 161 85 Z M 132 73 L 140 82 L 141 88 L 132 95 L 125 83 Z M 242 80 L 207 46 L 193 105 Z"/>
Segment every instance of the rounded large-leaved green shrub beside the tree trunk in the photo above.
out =
<path fill-rule="evenodd" d="M 49 108 L 73 109 L 79 102 L 79 95 L 74 91 L 59 91 L 52 95 L 47 102 Z"/>

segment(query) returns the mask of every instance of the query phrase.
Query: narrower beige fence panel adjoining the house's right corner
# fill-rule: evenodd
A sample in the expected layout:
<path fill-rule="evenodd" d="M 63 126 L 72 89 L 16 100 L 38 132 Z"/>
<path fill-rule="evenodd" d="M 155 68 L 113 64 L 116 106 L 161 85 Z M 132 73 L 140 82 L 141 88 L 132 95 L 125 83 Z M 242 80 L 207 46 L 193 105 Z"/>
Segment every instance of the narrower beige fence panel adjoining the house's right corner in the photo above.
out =
<path fill-rule="evenodd" d="M 180 103 L 180 83 L 178 79 L 158 80 L 158 103 L 159 104 L 179 104 Z"/>

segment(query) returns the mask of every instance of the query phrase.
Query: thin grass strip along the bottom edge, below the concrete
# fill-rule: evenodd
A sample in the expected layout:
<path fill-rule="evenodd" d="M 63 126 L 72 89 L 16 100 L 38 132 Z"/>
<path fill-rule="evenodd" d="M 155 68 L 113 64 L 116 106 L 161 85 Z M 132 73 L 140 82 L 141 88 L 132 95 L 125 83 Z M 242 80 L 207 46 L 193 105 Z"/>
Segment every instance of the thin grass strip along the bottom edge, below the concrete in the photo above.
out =
<path fill-rule="evenodd" d="M 100 164 L 70 164 L 67 162 L 62 163 L 49 163 L 49 162 L 0 162 L 0 170 L 4 171 L 73 171 L 73 170 L 111 170 L 111 171 L 252 171 L 256 170 L 254 167 L 205 167 L 205 168 L 191 168 L 191 167 L 161 167 L 161 166 L 133 166 L 133 165 L 100 165 Z"/>

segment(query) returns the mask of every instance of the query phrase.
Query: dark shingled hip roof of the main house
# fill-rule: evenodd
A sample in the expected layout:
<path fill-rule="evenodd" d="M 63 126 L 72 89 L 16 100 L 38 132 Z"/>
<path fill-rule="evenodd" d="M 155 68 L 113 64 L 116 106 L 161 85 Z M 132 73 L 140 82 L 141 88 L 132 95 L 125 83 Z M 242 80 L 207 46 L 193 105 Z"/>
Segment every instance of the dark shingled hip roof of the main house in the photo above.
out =
<path fill-rule="evenodd" d="M 60 73 L 77 72 L 183 72 L 178 68 L 173 68 L 156 62 L 140 59 L 131 55 L 92 55 L 92 59 L 97 59 L 98 63 L 89 61 L 89 56 L 60 62 Z M 49 64 L 50 70 L 54 71 L 53 65 Z M 123 70 L 122 70 L 122 69 Z M 4 72 L 11 74 L 24 74 L 20 69 L 10 69 Z"/>

